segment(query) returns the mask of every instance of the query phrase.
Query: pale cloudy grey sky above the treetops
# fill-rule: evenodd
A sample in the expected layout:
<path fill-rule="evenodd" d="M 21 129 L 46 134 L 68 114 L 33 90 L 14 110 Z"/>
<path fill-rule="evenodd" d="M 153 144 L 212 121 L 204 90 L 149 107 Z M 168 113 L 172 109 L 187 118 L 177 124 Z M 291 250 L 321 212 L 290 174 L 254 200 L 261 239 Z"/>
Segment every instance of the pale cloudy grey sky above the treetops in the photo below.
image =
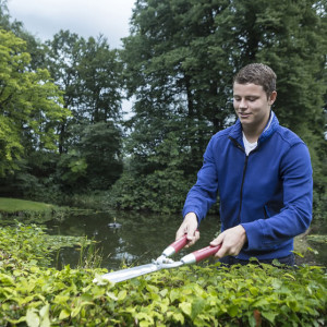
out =
<path fill-rule="evenodd" d="M 121 48 L 129 36 L 135 0 L 8 0 L 12 19 L 45 41 L 60 29 L 84 38 L 102 34 L 111 49 Z"/>

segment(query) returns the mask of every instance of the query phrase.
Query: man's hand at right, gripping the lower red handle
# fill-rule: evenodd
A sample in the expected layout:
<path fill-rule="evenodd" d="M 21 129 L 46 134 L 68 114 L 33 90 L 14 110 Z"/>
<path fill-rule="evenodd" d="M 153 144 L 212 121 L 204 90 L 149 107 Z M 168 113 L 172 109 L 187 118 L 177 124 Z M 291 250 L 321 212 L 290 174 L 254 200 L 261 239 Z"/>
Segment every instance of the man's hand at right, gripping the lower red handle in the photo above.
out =
<path fill-rule="evenodd" d="M 220 250 L 215 254 L 215 257 L 221 258 L 227 255 L 238 255 L 246 241 L 245 229 L 238 225 L 219 234 L 217 239 L 210 242 L 210 245 L 217 246 L 221 244 Z"/>

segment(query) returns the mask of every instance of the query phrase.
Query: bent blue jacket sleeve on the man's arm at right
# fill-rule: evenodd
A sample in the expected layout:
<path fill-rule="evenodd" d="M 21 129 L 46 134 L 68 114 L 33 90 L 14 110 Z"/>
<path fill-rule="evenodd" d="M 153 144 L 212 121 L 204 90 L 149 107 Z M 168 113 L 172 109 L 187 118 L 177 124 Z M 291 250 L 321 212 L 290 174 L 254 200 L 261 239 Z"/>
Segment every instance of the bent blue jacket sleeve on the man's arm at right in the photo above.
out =
<path fill-rule="evenodd" d="M 280 166 L 283 208 L 277 215 L 242 223 L 247 235 L 244 250 L 268 250 L 303 233 L 312 220 L 313 179 L 307 147 L 293 145 Z"/>

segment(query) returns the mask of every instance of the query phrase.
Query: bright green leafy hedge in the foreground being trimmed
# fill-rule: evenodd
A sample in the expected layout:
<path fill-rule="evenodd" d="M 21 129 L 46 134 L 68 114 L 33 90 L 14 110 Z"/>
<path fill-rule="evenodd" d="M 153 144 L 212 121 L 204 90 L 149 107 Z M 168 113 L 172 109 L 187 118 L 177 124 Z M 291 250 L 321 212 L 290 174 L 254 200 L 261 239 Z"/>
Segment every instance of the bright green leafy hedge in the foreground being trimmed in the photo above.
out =
<path fill-rule="evenodd" d="M 325 324 L 322 267 L 195 265 L 112 284 L 101 280 L 105 269 L 46 268 L 47 238 L 40 228 L 0 233 L 1 326 Z"/>

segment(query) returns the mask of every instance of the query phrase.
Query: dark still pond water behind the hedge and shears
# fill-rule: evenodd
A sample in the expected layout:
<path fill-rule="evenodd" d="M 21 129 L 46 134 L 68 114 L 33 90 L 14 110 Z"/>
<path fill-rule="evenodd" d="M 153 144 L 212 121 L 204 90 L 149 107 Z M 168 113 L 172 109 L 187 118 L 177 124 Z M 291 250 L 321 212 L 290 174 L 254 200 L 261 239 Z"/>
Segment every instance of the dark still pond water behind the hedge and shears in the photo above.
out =
<path fill-rule="evenodd" d="M 161 252 L 174 241 L 174 234 L 181 223 L 180 215 L 155 215 L 125 211 L 106 214 L 71 215 L 46 223 L 48 232 L 60 235 L 85 235 L 96 241 L 96 249 L 101 253 L 101 267 L 120 269 L 122 264 L 128 266 L 143 265 L 157 258 Z M 177 255 L 181 257 L 189 252 L 209 245 L 219 230 L 219 220 L 216 216 L 208 216 L 201 223 L 201 240 L 189 250 Z M 327 234 L 323 221 L 313 222 L 311 233 Z M 298 238 L 296 244 L 301 252 L 307 246 L 318 253 L 306 252 L 305 257 L 296 257 L 296 263 L 319 264 L 327 266 L 326 240 L 323 242 L 308 241 Z M 70 264 L 76 267 L 81 252 L 78 249 L 62 249 L 56 254 L 53 265 L 60 269 Z"/>

